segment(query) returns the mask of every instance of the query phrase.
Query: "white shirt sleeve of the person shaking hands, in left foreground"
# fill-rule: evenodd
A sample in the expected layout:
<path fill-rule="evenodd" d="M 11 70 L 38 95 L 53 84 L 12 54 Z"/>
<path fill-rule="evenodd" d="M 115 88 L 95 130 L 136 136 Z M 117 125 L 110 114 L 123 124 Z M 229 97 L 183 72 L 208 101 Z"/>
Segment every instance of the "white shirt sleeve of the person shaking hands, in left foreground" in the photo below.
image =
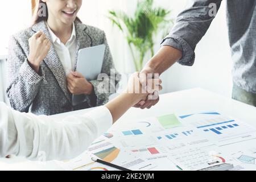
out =
<path fill-rule="evenodd" d="M 14 154 L 31 160 L 72 159 L 112 123 L 105 106 L 54 121 L 47 116 L 19 113 L 0 102 L 0 157 Z"/>

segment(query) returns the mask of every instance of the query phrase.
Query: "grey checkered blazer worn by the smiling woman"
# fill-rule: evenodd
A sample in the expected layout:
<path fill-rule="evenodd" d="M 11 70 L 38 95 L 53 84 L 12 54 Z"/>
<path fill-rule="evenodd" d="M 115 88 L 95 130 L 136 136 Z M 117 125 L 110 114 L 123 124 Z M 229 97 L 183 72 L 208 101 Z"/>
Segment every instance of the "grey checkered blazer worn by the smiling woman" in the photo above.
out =
<path fill-rule="evenodd" d="M 104 31 L 82 24 L 77 20 L 75 21 L 75 27 L 77 54 L 81 48 L 100 44 L 106 45 L 102 73 L 110 76 L 110 69 L 114 69 L 114 64 Z M 102 91 L 98 90 L 100 81 L 93 80 L 90 81 L 94 86 L 93 96 L 86 96 L 86 102 L 76 107 L 72 106 L 72 94 L 67 89 L 64 68 L 53 45 L 46 58 L 42 61 L 40 74 L 36 73 L 30 67 L 27 61 L 30 52 L 28 39 L 40 30 L 51 40 L 46 22 L 44 21 L 24 31 L 20 31 L 10 39 L 9 55 L 7 57 L 7 76 L 9 83 L 7 84 L 6 92 L 11 106 L 21 112 L 31 111 L 38 115 L 52 115 L 92 106 L 100 106 L 108 102 L 110 94 L 100 92 Z M 115 85 L 120 78 L 117 72 L 116 77 Z"/>

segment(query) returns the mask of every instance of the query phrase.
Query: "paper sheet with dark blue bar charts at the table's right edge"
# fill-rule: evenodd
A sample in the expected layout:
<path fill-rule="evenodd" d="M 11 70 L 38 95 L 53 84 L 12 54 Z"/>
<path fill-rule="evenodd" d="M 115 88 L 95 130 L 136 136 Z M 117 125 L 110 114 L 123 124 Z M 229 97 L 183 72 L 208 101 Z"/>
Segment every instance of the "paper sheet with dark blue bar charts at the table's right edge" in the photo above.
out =
<path fill-rule="evenodd" d="M 254 127 L 219 113 L 191 114 L 181 118 L 218 146 L 256 138 Z"/>

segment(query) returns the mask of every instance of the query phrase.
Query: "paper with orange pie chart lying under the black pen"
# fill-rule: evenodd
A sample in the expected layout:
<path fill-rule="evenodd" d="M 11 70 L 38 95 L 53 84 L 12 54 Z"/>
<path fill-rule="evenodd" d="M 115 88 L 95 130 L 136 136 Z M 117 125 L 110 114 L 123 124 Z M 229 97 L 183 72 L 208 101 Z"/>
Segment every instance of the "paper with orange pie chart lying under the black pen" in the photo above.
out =
<path fill-rule="evenodd" d="M 118 166 L 131 170 L 153 170 L 155 164 L 145 162 L 135 155 L 129 154 L 115 147 L 107 139 L 98 139 L 84 154 L 76 159 L 66 162 L 57 162 L 66 170 L 72 171 L 114 171 L 118 170 L 113 167 L 106 166 L 97 162 L 93 162 L 93 158 L 102 159 L 106 162 L 116 164 Z"/>

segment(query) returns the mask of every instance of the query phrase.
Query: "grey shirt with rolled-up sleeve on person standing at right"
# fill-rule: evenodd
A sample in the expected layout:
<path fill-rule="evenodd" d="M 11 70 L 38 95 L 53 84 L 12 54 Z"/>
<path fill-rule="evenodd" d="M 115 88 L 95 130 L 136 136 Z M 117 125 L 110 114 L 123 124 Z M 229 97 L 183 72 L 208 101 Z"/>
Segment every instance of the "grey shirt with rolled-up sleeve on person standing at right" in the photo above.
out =
<path fill-rule="evenodd" d="M 183 51 L 182 65 L 193 65 L 197 43 L 207 32 L 214 6 L 221 0 L 193 0 L 191 6 L 177 17 L 162 46 Z M 229 42 L 232 49 L 234 84 L 247 92 L 256 93 L 256 0 L 227 0 Z"/>

